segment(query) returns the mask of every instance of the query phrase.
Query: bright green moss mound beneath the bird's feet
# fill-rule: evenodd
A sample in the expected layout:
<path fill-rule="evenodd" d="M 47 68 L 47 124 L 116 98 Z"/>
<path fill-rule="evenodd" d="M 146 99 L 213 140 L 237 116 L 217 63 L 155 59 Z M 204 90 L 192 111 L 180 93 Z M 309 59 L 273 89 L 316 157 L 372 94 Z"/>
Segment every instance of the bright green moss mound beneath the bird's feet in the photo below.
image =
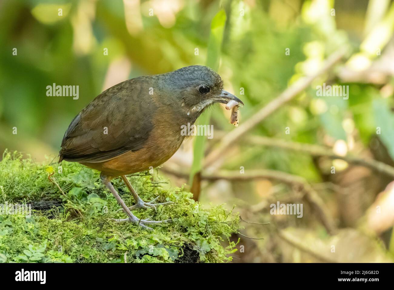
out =
<path fill-rule="evenodd" d="M 48 176 L 51 176 L 53 182 Z M 0 262 L 227 262 L 236 251 L 229 241 L 238 215 L 221 206 L 203 209 L 183 188 L 163 189 L 156 174 L 129 176 L 145 201 L 175 204 L 134 211 L 140 218 L 173 223 L 143 230 L 125 218 L 99 180 L 99 172 L 78 163 L 39 164 L 20 153 L 0 161 L 0 203 L 32 204 L 32 216 L 0 215 Z M 64 193 L 60 191 L 55 183 Z M 134 199 L 120 178 L 114 187 L 126 204 Z"/>

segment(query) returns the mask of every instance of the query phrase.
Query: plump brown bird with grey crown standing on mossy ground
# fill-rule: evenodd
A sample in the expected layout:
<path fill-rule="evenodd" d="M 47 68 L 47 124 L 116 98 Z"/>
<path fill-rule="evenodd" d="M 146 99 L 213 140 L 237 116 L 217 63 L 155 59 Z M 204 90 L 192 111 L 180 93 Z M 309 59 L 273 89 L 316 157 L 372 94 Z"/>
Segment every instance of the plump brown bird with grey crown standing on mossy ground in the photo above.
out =
<path fill-rule="evenodd" d="M 171 219 L 139 219 L 132 210 L 156 208 L 173 202 L 143 201 L 126 177 L 167 161 L 181 146 L 182 125 L 192 125 L 214 103 L 243 105 L 223 90 L 223 80 L 203 65 L 182 67 L 169 73 L 125 80 L 108 88 L 71 121 L 61 141 L 59 163 L 78 162 L 100 171 L 100 180 L 115 196 L 126 219 L 142 228 L 170 223 Z M 111 180 L 121 177 L 135 204 L 126 206 Z"/>

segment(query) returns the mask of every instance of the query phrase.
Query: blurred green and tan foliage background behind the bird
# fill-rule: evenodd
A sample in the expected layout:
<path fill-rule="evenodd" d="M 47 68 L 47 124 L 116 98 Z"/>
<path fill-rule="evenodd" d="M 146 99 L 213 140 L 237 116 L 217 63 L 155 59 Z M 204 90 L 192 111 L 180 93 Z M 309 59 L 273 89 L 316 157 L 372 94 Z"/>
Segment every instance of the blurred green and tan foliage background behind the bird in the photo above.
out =
<path fill-rule="evenodd" d="M 52 160 L 72 118 L 106 88 L 205 65 L 211 22 L 221 10 L 218 73 L 245 107 L 238 128 L 220 105 L 210 111 L 214 138 L 206 140 L 205 156 L 282 92 L 311 80 L 197 178 L 189 174 L 196 138 L 160 174 L 169 186 L 186 183 L 203 204 L 236 205 L 244 236 L 234 236 L 241 238 L 234 262 L 392 262 L 389 0 L 3 0 L 0 152 Z M 335 64 L 320 71 L 338 51 Z M 78 85 L 79 99 L 46 96 L 53 83 Z M 349 86 L 349 98 L 316 95 L 323 83 Z M 277 201 L 302 203 L 303 217 L 271 215 Z"/>

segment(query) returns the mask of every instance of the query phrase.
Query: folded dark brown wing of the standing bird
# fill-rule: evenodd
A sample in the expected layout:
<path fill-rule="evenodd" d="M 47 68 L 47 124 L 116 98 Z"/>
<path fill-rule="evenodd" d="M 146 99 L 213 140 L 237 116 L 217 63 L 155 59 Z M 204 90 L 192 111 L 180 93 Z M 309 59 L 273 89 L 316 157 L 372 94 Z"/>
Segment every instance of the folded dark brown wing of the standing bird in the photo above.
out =
<path fill-rule="evenodd" d="M 142 148 L 156 110 L 142 88 L 138 82 L 126 80 L 91 101 L 69 125 L 59 161 L 102 162 Z"/>

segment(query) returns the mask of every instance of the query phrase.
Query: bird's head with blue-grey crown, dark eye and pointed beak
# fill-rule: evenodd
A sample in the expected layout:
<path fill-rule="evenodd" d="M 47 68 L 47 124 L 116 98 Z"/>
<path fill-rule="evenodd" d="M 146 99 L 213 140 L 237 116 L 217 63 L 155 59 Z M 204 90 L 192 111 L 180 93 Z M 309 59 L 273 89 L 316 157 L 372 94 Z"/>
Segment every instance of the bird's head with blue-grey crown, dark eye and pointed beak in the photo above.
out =
<path fill-rule="evenodd" d="M 181 106 L 191 117 L 198 117 L 213 103 L 227 104 L 230 100 L 234 100 L 243 105 L 238 97 L 223 90 L 223 80 L 209 67 L 191 65 L 167 75 L 171 87 L 179 92 L 177 98 Z"/>

